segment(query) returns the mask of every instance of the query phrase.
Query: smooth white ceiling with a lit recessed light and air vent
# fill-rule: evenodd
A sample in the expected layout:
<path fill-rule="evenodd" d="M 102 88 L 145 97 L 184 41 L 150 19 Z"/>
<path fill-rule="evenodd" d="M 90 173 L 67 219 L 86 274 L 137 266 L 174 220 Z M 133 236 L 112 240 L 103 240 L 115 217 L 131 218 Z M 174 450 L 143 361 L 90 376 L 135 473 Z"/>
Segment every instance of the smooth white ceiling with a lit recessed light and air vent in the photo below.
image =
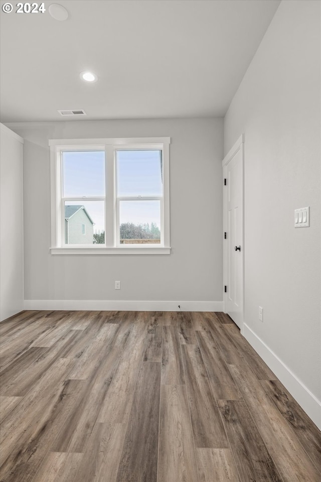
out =
<path fill-rule="evenodd" d="M 57 109 L 84 109 L 84 119 L 222 116 L 280 0 L 44 3 L 44 14 L 1 12 L 2 122 L 66 120 Z M 51 3 L 67 21 L 49 15 Z M 98 81 L 82 81 L 84 70 Z"/>

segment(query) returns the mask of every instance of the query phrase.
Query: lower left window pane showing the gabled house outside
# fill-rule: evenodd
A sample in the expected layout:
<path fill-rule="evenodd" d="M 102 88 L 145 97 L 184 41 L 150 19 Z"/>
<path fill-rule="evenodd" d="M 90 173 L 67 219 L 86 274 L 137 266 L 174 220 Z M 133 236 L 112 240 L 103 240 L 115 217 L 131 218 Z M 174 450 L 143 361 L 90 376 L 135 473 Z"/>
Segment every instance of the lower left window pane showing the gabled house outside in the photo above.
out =
<path fill-rule="evenodd" d="M 65 201 L 65 244 L 105 243 L 104 201 Z"/>

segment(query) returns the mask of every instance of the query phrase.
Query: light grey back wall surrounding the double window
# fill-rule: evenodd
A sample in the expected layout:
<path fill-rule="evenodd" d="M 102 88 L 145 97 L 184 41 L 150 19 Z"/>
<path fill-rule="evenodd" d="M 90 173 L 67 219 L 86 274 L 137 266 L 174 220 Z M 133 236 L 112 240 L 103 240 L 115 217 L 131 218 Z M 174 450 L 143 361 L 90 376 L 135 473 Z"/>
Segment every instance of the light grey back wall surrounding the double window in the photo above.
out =
<path fill-rule="evenodd" d="M 223 119 L 9 126 L 25 139 L 25 299 L 33 300 L 27 308 L 62 306 L 34 300 L 173 301 L 175 308 L 180 302 L 183 310 L 221 308 Z M 167 136 L 171 137 L 171 255 L 50 255 L 48 139 Z M 115 280 L 121 281 L 120 291 L 114 290 Z M 159 309 L 163 305 L 122 306 Z"/>

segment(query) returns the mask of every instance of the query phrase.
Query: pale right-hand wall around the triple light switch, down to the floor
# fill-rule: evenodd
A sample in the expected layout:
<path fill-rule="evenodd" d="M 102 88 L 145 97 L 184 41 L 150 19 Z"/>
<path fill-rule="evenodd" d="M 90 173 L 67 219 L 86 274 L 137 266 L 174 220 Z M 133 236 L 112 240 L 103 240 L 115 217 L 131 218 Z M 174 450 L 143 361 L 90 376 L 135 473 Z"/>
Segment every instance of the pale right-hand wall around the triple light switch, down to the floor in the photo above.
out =
<path fill-rule="evenodd" d="M 319 2 L 280 4 L 226 114 L 225 153 L 242 133 L 244 334 L 321 428 Z M 305 206 L 310 227 L 295 229 Z"/>

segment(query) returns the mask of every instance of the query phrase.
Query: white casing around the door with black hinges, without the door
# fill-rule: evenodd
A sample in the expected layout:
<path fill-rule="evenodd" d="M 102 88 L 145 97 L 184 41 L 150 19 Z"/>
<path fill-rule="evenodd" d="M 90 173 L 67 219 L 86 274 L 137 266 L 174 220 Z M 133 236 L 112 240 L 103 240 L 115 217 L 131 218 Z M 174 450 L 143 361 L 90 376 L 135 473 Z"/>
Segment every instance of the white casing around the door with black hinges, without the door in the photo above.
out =
<path fill-rule="evenodd" d="M 242 268 L 243 268 L 243 276 L 242 276 L 242 323 L 240 326 L 241 333 L 243 334 L 243 326 L 244 326 L 244 288 L 245 288 L 245 267 L 244 267 L 244 134 L 242 134 L 239 139 L 236 141 L 232 149 L 227 153 L 227 155 L 224 157 L 222 161 L 222 166 L 223 166 L 223 310 L 224 313 L 226 313 L 226 297 L 227 293 L 224 291 L 224 286 L 227 285 L 227 280 L 228 280 L 228 244 L 225 243 L 224 239 L 224 232 L 227 231 L 227 226 L 228 226 L 228 212 L 227 212 L 227 205 L 228 205 L 228 199 L 227 199 L 227 194 L 228 191 L 225 189 L 224 186 L 224 179 L 227 178 L 227 165 L 228 163 L 232 160 L 232 158 L 235 156 L 235 154 L 241 151 L 241 169 L 242 169 L 242 240 L 241 240 L 241 255 L 242 255 Z"/>

